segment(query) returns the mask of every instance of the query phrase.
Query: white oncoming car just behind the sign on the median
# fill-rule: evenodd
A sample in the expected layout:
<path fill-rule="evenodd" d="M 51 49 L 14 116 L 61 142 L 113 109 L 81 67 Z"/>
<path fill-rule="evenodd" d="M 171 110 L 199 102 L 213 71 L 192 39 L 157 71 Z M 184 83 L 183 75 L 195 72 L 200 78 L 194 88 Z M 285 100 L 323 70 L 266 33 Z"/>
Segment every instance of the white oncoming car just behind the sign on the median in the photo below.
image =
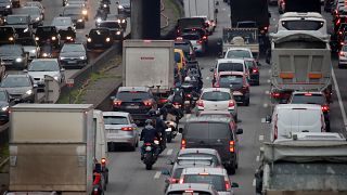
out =
<path fill-rule="evenodd" d="M 46 75 L 53 77 L 60 84 L 65 81 L 65 69 L 56 58 L 35 58 L 25 72 L 34 78 L 39 91 L 44 91 Z"/>

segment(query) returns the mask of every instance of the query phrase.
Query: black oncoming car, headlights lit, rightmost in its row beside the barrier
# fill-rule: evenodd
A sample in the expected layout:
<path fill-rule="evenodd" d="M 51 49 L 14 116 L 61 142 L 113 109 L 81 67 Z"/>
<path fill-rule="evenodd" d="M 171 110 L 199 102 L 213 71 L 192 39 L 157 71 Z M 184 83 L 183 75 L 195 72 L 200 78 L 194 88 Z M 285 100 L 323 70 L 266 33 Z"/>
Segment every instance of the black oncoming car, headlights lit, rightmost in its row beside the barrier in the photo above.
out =
<path fill-rule="evenodd" d="M 107 49 L 113 44 L 113 34 L 108 28 L 92 28 L 87 37 L 87 49 Z"/>

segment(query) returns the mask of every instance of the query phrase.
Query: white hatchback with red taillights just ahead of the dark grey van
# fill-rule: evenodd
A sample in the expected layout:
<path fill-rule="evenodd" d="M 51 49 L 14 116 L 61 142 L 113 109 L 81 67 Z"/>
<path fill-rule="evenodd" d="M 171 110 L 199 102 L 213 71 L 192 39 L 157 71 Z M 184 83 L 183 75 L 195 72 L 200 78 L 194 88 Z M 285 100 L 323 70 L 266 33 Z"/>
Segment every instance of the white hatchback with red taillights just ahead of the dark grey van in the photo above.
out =
<path fill-rule="evenodd" d="M 196 102 L 197 110 L 228 110 L 237 120 L 237 104 L 229 88 L 205 88 Z"/>

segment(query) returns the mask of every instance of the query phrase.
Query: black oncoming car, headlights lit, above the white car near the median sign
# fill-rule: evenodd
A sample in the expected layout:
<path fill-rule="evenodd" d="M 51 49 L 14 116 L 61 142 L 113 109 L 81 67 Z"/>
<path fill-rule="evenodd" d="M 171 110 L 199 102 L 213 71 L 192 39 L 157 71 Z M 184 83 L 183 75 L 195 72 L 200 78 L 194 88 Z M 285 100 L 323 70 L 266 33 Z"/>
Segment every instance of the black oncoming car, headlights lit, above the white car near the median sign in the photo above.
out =
<path fill-rule="evenodd" d="M 39 26 L 35 32 L 35 40 L 39 46 L 50 41 L 55 48 L 60 47 L 60 35 L 55 26 Z"/>

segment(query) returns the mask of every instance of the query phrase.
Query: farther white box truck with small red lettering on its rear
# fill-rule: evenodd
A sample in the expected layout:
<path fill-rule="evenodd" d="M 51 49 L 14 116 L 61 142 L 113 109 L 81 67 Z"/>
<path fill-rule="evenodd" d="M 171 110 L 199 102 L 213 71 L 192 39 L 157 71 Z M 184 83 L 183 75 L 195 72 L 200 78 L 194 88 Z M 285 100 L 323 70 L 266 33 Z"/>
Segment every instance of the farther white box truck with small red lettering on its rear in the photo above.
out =
<path fill-rule="evenodd" d="M 169 94 L 174 82 L 172 40 L 125 40 L 123 86 L 150 87 L 156 95 Z"/>

